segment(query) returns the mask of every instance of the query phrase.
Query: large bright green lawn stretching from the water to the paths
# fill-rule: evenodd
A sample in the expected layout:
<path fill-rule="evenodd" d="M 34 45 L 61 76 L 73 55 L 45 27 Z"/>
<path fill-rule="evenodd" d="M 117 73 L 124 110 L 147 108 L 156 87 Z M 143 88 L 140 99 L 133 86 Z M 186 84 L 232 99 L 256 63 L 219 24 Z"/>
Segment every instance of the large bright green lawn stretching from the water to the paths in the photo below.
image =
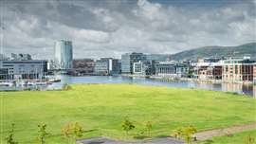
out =
<path fill-rule="evenodd" d="M 256 99 L 197 89 L 135 84 L 77 84 L 70 91 L 0 92 L 3 140 L 11 123 L 19 144 L 34 144 L 37 125 L 47 124 L 48 143 L 67 143 L 61 136 L 64 124 L 77 121 L 87 132 L 83 137 L 132 138 L 146 121 L 153 122 L 153 136 L 170 135 L 192 124 L 207 130 L 255 122 Z M 131 137 L 121 130 L 121 121 L 135 123 Z M 1 141 L 1 143 L 4 143 Z"/>

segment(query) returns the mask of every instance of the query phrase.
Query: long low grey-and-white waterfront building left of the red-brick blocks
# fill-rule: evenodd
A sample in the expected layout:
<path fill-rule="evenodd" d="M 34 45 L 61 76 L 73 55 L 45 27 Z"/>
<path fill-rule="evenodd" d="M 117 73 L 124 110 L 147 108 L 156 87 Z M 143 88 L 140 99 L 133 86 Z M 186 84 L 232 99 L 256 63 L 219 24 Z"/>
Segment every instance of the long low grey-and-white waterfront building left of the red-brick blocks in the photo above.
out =
<path fill-rule="evenodd" d="M 155 63 L 155 76 L 168 78 L 187 77 L 189 65 L 186 63 L 160 62 Z"/>

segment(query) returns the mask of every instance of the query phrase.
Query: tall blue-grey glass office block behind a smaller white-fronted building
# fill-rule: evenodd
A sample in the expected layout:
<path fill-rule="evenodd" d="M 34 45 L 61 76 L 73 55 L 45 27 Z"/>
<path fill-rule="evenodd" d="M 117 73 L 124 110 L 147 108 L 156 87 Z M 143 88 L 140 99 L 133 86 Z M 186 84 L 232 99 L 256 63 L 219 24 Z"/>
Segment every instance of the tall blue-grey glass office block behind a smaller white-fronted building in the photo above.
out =
<path fill-rule="evenodd" d="M 134 63 L 137 62 L 145 62 L 146 61 L 146 55 L 143 53 L 126 53 L 121 55 L 121 73 L 122 74 L 132 74 L 133 73 L 133 67 Z"/>

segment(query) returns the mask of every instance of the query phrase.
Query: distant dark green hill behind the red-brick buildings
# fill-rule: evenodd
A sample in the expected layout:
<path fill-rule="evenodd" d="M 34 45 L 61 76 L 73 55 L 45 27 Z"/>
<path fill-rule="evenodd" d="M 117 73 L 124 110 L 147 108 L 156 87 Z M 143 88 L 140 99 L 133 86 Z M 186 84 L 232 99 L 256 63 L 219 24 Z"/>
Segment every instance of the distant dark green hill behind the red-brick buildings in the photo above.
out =
<path fill-rule="evenodd" d="M 238 46 L 205 46 L 171 55 L 172 60 L 197 60 L 197 58 L 243 57 L 256 58 L 256 43 Z"/>

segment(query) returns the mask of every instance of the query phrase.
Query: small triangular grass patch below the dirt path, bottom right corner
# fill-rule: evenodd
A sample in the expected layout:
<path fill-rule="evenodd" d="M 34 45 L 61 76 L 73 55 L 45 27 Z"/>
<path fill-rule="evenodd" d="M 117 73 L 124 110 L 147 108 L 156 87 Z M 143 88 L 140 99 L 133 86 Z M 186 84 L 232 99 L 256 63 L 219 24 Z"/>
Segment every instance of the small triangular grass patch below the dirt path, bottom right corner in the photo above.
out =
<path fill-rule="evenodd" d="M 247 144 L 248 135 L 254 138 L 253 144 L 256 144 L 256 130 L 235 135 L 218 136 L 208 141 L 199 142 L 198 144 Z"/>

